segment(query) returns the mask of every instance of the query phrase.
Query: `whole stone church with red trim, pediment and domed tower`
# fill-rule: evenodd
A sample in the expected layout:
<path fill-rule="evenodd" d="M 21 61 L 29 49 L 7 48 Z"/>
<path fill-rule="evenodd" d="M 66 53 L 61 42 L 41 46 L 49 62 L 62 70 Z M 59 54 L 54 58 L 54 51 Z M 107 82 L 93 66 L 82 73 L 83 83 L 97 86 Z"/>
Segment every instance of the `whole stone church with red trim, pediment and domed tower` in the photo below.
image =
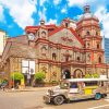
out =
<path fill-rule="evenodd" d="M 25 33 L 7 40 L 1 69 L 8 78 L 15 71 L 31 81 L 44 71 L 46 82 L 107 72 L 99 20 L 89 5 L 84 7 L 77 22 L 68 17 L 57 26 L 41 20 L 39 26 L 27 26 Z"/>

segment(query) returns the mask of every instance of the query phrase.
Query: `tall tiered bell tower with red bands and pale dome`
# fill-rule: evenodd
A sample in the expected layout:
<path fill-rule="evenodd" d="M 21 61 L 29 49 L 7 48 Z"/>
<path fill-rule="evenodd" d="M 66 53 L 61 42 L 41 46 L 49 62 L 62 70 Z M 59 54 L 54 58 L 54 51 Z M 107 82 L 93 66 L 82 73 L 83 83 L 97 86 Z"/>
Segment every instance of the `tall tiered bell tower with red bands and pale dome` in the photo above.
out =
<path fill-rule="evenodd" d="M 85 44 L 86 64 L 92 64 L 93 68 L 100 66 L 105 63 L 105 53 L 101 48 L 102 37 L 100 36 L 99 20 L 90 12 L 89 5 L 84 7 L 84 14 L 76 25 L 76 32 Z"/>

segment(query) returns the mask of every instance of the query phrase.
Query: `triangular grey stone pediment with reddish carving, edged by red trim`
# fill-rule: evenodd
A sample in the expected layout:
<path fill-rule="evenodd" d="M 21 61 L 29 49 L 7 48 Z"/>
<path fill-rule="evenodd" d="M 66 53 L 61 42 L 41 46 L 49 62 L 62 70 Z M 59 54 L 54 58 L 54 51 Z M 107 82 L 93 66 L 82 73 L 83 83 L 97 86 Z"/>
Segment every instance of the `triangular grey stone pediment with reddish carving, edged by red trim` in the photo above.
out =
<path fill-rule="evenodd" d="M 82 48 L 83 45 L 77 39 L 77 37 L 75 36 L 75 34 L 73 34 L 73 32 L 71 32 L 71 29 L 62 28 L 61 31 L 49 36 L 49 40 L 53 41 L 55 44 L 62 44 L 64 46 Z"/>

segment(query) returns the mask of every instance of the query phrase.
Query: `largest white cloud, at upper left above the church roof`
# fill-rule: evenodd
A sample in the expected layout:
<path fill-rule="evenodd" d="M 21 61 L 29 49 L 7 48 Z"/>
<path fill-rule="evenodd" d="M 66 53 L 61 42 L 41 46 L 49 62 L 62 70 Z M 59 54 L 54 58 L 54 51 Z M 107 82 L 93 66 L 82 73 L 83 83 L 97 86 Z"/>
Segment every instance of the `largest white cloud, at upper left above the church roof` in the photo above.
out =
<path fill-rule="evenodd" d="M 36 12 L 36 3 L 32 3 L 29 0 L 1 0 L 0 2 L 4 8 L 9 9 L 10 15 L 21 28 L 34 25 L 32 15 Z"/>

